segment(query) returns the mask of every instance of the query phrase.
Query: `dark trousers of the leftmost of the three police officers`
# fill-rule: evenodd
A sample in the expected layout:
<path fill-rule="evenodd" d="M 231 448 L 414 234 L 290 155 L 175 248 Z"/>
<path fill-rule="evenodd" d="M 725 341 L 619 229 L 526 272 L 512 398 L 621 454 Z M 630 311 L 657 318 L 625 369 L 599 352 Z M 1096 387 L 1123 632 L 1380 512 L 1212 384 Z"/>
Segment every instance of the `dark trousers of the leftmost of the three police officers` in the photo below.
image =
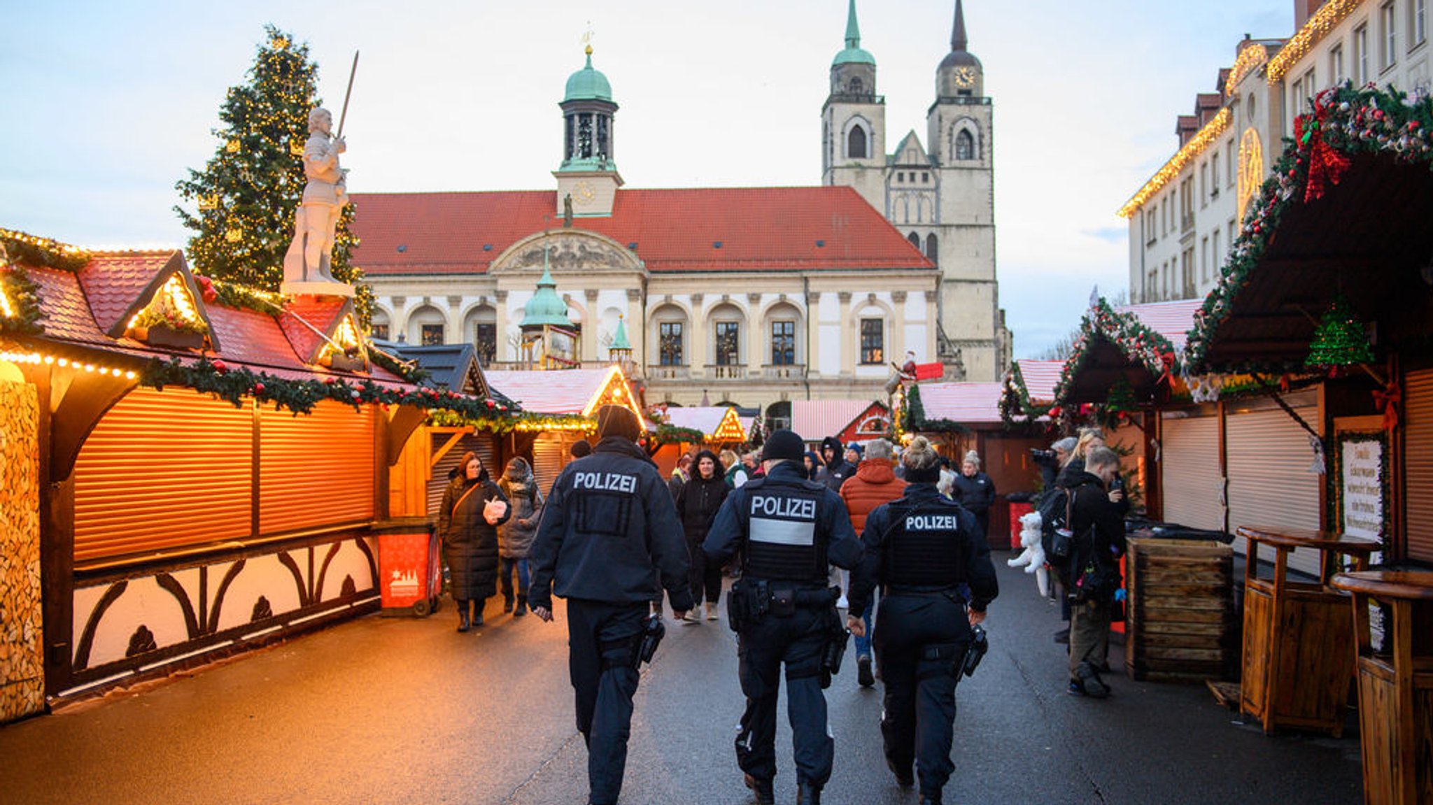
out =
<path fill-rule="evenodd" d="M 648 604 L 567 599 L 567 669 L 577 696 L 577 732 L 588 742 L 588 786 L 595 805 L 618 801 L 632 732 L 638 672 L 633 640 Z"/>

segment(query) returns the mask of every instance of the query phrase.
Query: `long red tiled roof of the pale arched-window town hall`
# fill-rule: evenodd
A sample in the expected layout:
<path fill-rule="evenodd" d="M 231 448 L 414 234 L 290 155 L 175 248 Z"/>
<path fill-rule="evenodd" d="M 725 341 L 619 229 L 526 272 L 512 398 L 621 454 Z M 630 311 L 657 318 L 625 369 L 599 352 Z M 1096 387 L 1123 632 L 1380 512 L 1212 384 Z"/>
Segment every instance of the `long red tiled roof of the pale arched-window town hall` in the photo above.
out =
<path fill-rule="evenodd" d="M 555 191 L 353 199 L 353 262 L 371 276 L 483 274 L 514 242 L 562 226 Z M 636 244 L 653 272 L 934 268 L 844 186 L 619 189 L 610 216 L 573 228 Z"/>

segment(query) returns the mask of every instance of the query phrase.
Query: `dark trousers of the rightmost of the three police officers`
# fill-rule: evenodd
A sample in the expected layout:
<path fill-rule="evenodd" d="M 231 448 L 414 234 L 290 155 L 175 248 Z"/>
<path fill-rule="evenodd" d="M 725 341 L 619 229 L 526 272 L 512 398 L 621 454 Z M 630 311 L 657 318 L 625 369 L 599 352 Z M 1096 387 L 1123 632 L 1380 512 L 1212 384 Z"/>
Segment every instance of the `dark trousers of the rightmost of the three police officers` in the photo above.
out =
<path fill-rule="evenodd" d="M 963 602 L 940 593 L 891 592 L 876 612 L 886 759 L 897 769 L 910 769 L 914 761 L 923 794 L 939 794 L 956 768 L 950 761 L 956 680 L 970 636 Z"/>

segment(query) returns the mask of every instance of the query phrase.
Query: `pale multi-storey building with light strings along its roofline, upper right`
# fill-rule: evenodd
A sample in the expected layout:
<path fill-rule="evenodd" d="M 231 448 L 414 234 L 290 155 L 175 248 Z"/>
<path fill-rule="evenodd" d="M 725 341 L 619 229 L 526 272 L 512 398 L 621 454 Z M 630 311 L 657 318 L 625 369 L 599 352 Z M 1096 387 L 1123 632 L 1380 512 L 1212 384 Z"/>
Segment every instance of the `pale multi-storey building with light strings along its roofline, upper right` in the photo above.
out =
<path fill-rule="evenodd" d="M 1218 282 L 1230 245 L 1294 119 L 1328 87 L 1430 87 L 1427 0 L 1294 0 L 1288 39 L 1238 43 L 1214 93 L 1176 126 L 1179 150 L 1119 209 L 1129 297 L 1192 299 Z"/>

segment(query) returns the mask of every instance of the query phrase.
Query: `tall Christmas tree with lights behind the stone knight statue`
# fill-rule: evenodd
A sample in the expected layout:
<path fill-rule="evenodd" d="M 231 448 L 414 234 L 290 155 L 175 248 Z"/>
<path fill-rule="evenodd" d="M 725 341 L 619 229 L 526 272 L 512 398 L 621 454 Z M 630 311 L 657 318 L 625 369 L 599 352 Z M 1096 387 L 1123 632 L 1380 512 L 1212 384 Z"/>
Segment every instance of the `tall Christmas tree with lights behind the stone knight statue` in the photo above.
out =
<path fill-rule="evenodd" d="M 304 195 L 304 142 L 317 95 L 318 64 L 308 46 L 274 26 L 259 46 L 248 83 L 229 87 L 214 130 L 219 148 L 203 170 L 175 188 L 196 211 L 175 206 L 195 231 L 188 256 L 198 274 L 259 291 L 277 292 L 284 281 L 284 252 L 294 239 L 294 212 Z M 335 110 L 337 112 L 337 110 Z M 337 117 L 337 115 L 335 115 Z M 364 322 L 373 291 L 358 284 L 350 264 L 357 245 L 350 231 L 353 205 L 334 233 L 332 275 L 357 288 L 354 304 Z"/>

